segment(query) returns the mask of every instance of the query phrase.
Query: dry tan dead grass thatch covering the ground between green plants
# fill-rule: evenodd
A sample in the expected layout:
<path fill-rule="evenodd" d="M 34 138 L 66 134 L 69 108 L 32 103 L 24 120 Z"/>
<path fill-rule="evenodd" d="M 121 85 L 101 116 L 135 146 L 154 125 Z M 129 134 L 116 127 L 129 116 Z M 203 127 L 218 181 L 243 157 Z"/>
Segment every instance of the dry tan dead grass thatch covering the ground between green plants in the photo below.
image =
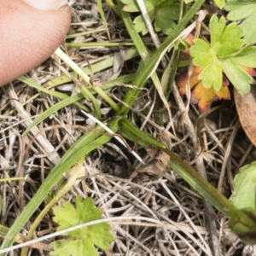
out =
<path fill-rule="evenodd" d="M 72 9 L 73 22 L 78 25 L 72 26 L 69 34 L 91 32 L 69 38 L 67 42 L 100 44 L 109 41 L 99 18 L 96 2 L 73 3 Z M 103 9 L 111 42 L 131 42 L 122 21 L 113 15 L 106 3 Z M 86 21 L 80 23 L 84 19 Z M 163 38 L 164 35 L 160 34 L 160 40 Z M 150 42 L 150 38 L 145 37 L 144 41 Z M 102 83 L 137 70 L 140 57 L 124 61 L 124 55 L 131 48 L 132 46 L 91 45 L 86 48 L 68 47 L 67 53 L 81 67 L 114 57 L 113 67 L 112 64 L 110 67 L 100 66 L 99 72 L 94 72 L 94 83 Z M 171 55 L 169 53 L 169 58 Z M 29 76 L 47 87 L 48 81 L 61 74 L 60 64 L 59 61 L 46 61 Z M 66 66 L 63 64 L 63 67 Z M 68 68 L 67 71 L 70 72 Z M 163 68 L 160 66 L 157 73 L 161 76 L 162 72 Z M 115 84 L 113 95 L 121 99 L 127 84 L 129 83 Z M 172 111 L 170 122 L 168 113 L 154 90 L 154 84 L 148 80 L 146 87 L 148 91 L 143 92 L 143 96 L 135 103 L 137 112 L 129 113 L 132 124 L 137 127 L 143 125 L 143 131 L 167 144 L 170 142 L 166 137 L 171 139 L 172 143 L 168 146 L 172 151 L 196 169 L 201 168 L 208 181 L 229 197 L 236 172 L 241 166 L 254 160 L 256 154 L 255 148 L 241 129 L 233 99 L 214 102 L 207 113 L 201 114 L 195 105 L 187 106 L 185 98 L 171 94 L 168 98 Z M 54 90 L 67 95 L 78 91 L 71 80 L 55 86 Z M 111 91 L 108 90 L 109 95 Z M 93 127 L 94 124 L 78 107 L 70 105 L 44 119 L 38 125 L 40 132 L 34 131 L 21 137 L 29 120 L 44 113 L 50 106 L 60 102 L 60 99 L 38 92 L 20 81 L 15 81 L 13 86 L 1 88 L 0 95 L 0 114 L 9 114 L 8 118 L 0 121 L 1 178 L 25 177 L 25 181 L 0 183 L 3 195 L 1 224 L 10 227 L 40 184 L 44 183 L 58 158 L 84 134 L 85 131 L 78 125 Z M 152 102 L 146 106 L 148 96 Z M 97 100 L 101 104 L 102 119 L 111 117 L 113 111 L 108 104 L 100 96 Z M 88 101 L 80 102 L 91 107 Z M 153 104 L 154 109 L 150 109 Z M 61 129 L 57 126 L 60 124 L 66 125 L 66 128 Z M 48 126 L 51 127 L 50 130 L 44 130 Z M 166 130 L 164 138 L 160 137 L 160 131 L 163 130 Z M 35 140 L 39 135 L 42 138 Z M 134 146 L 133 143 L 128 143 L 131 147 Z M 201 143 L 201 151 L 198 151 L 198 143 Z M 55 149 L 54 154 L 51 148 L 45 148 L 46 144 Z M 230 233 L 227 219 L 211 207 L 206 207 L 201 196 L 190 189 L 181 177 L 170 169 L 160 172 L 145 148 L 135 145 L 134 150 L 148 164 L 147 169 L 139 172 L 137 177 L 129 179 L 132 172 L 141 170 L 138 161 L 112 139 L 86 156 L 83 178 L 64 197 L 67 201 L 73 201 L 76 195 L 90 196 L 97 207 L 102 207 L 104 218 L 125 217 L 112 223 L 115 241 L 106 255 L 255 255 L 255 248 L 245 246 Z M 43 208 L 44 204 L 26 224 L 22 234 L 26 235 L 26 230 Z M 45 216 L 38 226 L 37 236 L 44 236 L 55 229 L 51 216 L 52 212 Z M 207 227 L 209 223 L 213 227 L 210 230 Z M 33 250 L 31 255 L 48 255 L 48 252 Z"/>

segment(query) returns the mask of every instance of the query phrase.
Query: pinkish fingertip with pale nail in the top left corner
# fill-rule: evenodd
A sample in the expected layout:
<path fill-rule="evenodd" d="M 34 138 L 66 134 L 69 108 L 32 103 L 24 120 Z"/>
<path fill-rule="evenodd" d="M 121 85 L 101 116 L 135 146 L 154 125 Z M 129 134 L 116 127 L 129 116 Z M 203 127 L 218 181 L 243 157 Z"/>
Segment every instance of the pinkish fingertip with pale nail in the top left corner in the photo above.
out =
<path fill-rule="evenodd" d="M 0 0 L 0 87 L 49 58 L 69 29 L 67 0 L 32 2 L 51 5 L 38 9 L 23 0 Z"/>

